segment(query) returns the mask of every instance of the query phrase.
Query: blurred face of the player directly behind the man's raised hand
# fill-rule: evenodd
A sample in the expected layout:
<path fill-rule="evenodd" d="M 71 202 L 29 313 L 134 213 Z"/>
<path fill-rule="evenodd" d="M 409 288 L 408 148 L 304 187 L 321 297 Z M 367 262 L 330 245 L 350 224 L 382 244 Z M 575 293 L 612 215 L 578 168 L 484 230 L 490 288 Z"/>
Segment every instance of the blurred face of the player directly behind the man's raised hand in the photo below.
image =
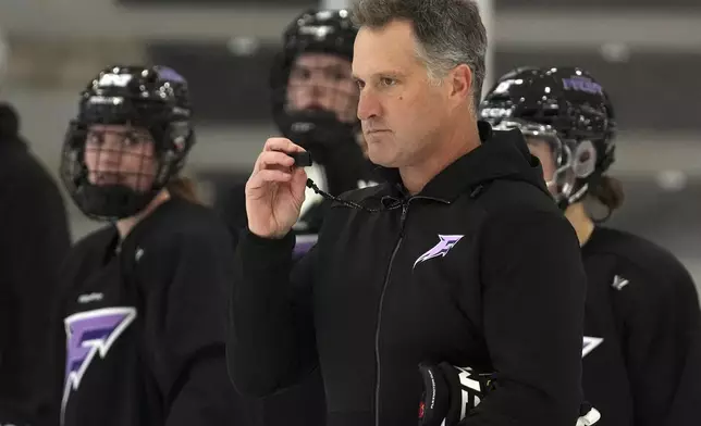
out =
<path fill-rule="evenodd" d="M 357 118 L 358 87 L 350 62 L 328 53 L 303 53 L 291 64 L 286 87 L 290 112 L 330 111 L 336 120 L 353 124 Z"/>

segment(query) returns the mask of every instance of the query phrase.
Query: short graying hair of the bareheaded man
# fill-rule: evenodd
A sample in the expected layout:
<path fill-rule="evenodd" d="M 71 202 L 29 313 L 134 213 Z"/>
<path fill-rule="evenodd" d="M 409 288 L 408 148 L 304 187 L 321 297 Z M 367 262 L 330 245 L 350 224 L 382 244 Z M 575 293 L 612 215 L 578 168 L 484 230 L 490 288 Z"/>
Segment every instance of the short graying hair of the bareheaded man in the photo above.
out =
<path fill-rule="evenodd" d="M 356 26 L 381 28 L 392 21 L 411 23 L 417 57 L 429 79 L 439 84 L 455 66 L 472 71 L 472 98 L 478 110 L 484 82 L 487 30 L 472 0 L 356 0 L 350 11 Z"/>

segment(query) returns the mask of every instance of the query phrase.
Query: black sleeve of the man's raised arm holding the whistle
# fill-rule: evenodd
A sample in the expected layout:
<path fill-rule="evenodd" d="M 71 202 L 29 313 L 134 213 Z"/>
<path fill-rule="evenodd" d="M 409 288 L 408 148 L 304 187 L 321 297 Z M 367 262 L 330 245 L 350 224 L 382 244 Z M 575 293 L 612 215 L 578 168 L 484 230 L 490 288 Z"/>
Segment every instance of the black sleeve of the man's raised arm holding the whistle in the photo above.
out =
<path fill-rule="evenodd" d="M 312 248 L 292 271 L 294 236 L 244 230 L 229 306 L 229 372 L 244 394 L 265 397 L 298 383 L 318 364 L 311 313 Z"/>

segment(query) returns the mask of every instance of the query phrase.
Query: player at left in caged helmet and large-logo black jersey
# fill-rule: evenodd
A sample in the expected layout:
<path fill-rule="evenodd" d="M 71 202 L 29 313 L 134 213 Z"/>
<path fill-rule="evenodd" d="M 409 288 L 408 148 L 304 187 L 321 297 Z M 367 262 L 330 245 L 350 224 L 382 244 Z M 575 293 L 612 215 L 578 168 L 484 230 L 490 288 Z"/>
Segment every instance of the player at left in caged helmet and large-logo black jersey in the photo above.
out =
<path fill-rule="evenodd" d="M 109 67 L 81 95 L 61 178 L 109 225 L 60 275 L 61 425 L 239 419 L 224 353 L 232 242 L 180 177 L 192 120 L 187 83 L 168 67 Z"/>

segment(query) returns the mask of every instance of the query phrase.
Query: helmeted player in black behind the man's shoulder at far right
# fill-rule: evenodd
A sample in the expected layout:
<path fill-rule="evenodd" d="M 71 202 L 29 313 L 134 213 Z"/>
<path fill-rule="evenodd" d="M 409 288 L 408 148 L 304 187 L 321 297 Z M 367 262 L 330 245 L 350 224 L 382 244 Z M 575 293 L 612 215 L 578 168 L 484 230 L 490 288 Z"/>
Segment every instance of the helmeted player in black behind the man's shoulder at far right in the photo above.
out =
<path fill-rule="evenodd" d="M 608 176 L 611 99 L 577 67 L 524 67 L 481 103 L 495 128 L 519 128 L 555 201 L 577 231 L 589 287 L 582 346 L 586 398 L 600 425 L 696 425 L 701 404 L 701 314 L 689 273 L 665 249 L 601 225 L 623 202 Z M 592 217 L 586 200 L 607 209 Z"/>

